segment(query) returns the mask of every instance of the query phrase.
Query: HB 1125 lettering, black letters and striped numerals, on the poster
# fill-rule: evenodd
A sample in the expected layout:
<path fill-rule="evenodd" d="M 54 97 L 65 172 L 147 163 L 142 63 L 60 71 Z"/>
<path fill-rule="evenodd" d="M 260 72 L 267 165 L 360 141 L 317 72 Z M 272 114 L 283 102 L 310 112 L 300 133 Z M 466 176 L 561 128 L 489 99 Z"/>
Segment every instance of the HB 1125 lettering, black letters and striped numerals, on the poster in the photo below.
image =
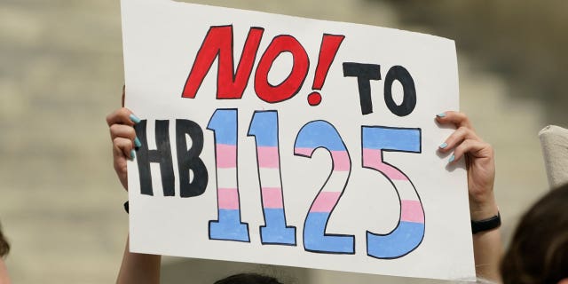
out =
<path fill-rule="evenodd" d="M 248 127 L 248 136 L 256 141 L 256 165 L 264 214 L 260 236 L 263 244 L 295 246 L 296 227 L 288 225 L 284 207 L 278 121 L 277 111 L 256 111 Z M 154 195 L 150 162 L 157 162 L 160 164 L 164 196 L 175 195 L 169 122 L 155 122 L 155 150 L 149 150 L 147 146 L 146 120 L 135 127 L 142 142 L 137 155 L 142 194 Z M 215 138 L 217 173 L 217 220 L 209 221 L 209 239 L 248 242 L 248 224 L 241 220 L 239 199 L 237 109 L 217 109 L 207 129 L 213 131 Z M 186 134 L 192 141 L 189 149 L 186 148 Z M 386 234 L 367 231 L 367 255 L 382 259 L 405 256 L 422 242 L 424 210 L 413 183 L 404 172 L 383 161 L 383 152 L 421 153 L 421 130 L 362 126 L 361 140 L 363 168 L 376 170 L 388 178 L 400 201 L 400 218 L 394 230 Z M 201 127 L 189 120 L 176 120 L 176 144 L 180 195 L 201 195 L 209 181 L 208 170 L 200 158 L 203 148 Z M 296 135 L 294 154 L 311 158 L 319 148 L 330 154 L 332 170 L 305 217 L 304 249 L 318 253 L 354 254 L 354 235 L 326 233 L 327 221 L 351 176 L 350 153 L 334 125 L 320 120 L 308 122 Z M 189 176 L 190 171 L 193 178 Z M 328 184 L 332 176 L 334 180 L 343 181 L 343 185 L 338 186 L 336 182 Z"/>

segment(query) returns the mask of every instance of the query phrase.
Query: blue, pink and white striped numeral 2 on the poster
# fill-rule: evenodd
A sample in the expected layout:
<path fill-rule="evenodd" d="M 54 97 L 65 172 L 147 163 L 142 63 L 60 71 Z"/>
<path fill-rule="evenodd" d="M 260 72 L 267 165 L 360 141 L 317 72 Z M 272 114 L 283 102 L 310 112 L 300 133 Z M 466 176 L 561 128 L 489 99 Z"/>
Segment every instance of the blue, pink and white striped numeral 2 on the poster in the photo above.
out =
<path fill-rule="evenodd" d="M 355 237 L 345 234 L 327 234 L 327 220 L 341 198 L 351 175 L 351 158 L 343 139 L 329 122 L 314 121 L 298 132 L 294 154 L 312 157 L 317 148 L 324 148 L 332 158 L 332 171 L 304 222 L 304 249 L 313 252 L 354 254 Z"/>

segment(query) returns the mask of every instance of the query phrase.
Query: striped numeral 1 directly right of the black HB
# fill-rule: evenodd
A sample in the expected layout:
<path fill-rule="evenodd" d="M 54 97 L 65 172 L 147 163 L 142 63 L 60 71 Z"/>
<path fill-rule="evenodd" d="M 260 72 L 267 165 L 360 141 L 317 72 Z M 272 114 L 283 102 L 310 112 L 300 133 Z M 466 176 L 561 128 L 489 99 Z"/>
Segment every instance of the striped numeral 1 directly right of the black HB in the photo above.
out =
<path fill-rule="evenodd" d="M 249 241 L 248 224 L 241 222 L 237 170 L 237 110 L 217 109 L 208 130 L 215 134 L 217 220 L 209 221 L 209 239 Z"/>

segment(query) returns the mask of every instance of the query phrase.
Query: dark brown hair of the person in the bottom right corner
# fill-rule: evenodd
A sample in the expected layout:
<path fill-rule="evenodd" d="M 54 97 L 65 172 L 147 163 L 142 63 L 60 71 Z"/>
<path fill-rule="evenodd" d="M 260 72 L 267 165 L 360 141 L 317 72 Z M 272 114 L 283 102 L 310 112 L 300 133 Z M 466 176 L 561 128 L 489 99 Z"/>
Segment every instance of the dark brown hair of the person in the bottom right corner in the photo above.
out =
<path fill-rule="evenodd" d="M 504 284 L 568 278 L 568 184 L 550 191 L 521 218 L 501 262 Z"/>

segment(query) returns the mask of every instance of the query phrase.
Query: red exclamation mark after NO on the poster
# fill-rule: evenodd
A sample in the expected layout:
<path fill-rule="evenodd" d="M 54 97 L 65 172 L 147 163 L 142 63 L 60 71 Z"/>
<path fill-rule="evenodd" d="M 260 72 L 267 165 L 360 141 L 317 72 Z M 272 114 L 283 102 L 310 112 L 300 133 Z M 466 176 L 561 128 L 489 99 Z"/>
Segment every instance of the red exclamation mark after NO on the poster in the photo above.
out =
<path fill-rule="evenodd" d="M 335 55 L 339 50 L 339 46 L 343 42 L 345 36 L 327 35 L 324 34 L 321 39 L 321 46 L 319 47 L 318 67 L 316 67 L 316 74 L 313 77 L 312 91 L 308 95 L 308 104 L 310 106 L 318 106 L 321 102 L 321 91 L 323 83 L 326 82 L 327 72 L 331 63 L 334 62 Z M 318 91 L 315 91 L 318 90 Z"/>

